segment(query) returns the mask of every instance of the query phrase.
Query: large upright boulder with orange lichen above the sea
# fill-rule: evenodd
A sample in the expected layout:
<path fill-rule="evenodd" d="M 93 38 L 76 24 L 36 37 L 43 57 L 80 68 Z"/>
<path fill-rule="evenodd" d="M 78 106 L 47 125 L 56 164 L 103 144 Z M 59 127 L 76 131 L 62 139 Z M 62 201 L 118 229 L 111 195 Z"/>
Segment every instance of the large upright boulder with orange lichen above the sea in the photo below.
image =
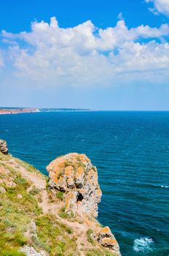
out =
<path fill-rule="evenodd" d="M 64 192 L 66 211 L 98 216 L 101 189 L 98 172 L 85 154 L 71 153 L 58 157 L 47 166 L 50 187 Z"/>

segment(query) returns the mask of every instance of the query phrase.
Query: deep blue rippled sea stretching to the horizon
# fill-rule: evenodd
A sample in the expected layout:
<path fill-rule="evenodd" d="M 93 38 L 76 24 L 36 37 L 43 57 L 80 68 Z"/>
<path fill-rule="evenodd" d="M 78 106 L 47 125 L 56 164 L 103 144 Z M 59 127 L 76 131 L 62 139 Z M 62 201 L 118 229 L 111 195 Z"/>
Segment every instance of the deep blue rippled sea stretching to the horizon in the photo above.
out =
<path fill-rule="evenodd" d="M 39 168 L 69 152 L 98 168 L 98 220 L 123 256 L 169 255 L 169 112 L 49 112 L 0 116 L 13 156 Z"/>

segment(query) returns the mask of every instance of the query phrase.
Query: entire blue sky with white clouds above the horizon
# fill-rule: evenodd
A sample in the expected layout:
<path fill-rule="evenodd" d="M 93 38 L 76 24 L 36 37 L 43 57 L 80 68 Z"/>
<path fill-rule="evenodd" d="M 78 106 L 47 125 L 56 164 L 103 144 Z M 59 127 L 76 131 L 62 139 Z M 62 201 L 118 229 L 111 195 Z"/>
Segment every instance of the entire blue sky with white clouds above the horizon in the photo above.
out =
<path fill-rule="evenodd" d="M 0 107 L 169 110 L 169 0 L 6 0 Z"/>

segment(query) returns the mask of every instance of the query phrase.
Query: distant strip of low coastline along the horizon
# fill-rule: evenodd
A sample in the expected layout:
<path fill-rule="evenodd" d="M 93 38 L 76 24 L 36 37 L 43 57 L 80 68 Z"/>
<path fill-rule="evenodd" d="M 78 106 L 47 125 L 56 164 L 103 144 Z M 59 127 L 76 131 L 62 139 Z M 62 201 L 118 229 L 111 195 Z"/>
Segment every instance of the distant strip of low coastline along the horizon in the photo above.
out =
<path fill-rule="evenodd" d="M 0 115 L 58 111 L 93 111 L 82 108 L 0 108 Z"/>

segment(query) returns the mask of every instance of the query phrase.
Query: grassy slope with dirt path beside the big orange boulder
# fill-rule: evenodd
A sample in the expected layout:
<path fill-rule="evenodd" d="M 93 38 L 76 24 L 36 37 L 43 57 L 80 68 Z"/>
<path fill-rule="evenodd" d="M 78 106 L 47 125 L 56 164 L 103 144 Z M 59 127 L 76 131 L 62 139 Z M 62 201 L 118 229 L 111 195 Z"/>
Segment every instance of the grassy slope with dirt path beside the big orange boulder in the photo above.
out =
<path fill-rule="evenodd" d="M 98 243 L 95 230 L 105 230 L 95 218 L 65 209 L 64 192 L 53 192 L 46 176 L 0 152 L 1 256 L 119 255 Z"/>

